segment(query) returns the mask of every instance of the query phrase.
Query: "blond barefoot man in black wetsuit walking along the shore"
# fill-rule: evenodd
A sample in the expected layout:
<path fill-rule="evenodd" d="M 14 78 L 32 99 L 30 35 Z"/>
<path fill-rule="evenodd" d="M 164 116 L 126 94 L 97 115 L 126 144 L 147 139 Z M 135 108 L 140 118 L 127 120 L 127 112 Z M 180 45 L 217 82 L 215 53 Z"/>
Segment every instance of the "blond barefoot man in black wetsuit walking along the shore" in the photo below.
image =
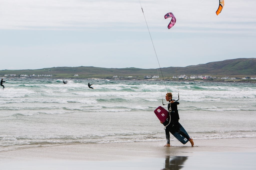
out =
<path fill-rule="evenodd" d="M 178 108 L 177 108 L 177 105 L 179 104 L 179 102 L 173 100 L 172 97 L 173 97 L 172 93 L 166 93 L 165 99 L 166 99 L 166 101 L 170 102 L 168 104 L 168 111 L 170 113 L 171 120 L 170 120 L 169 125 L 168 125 L 169 121 L 164 122 L 165 126 L 168 125 L 165 128 L 165 135 L 166 135 L 166 140 L 167 140 L 167 144 L 165 146 L 170 147 L 170 133 L 172 133 L 172 132 L 178 132 L 179 134 L 181 134 L 182 136 L 184 136 L 185 138 L 187 138 L 189 140 L 189 142 L 191 143 L 191 146 L 194 146 L 193 139 L 191 139 L 188 135 L 186 135 L 185 133 L 183 133 L 182 131 L 179 130 L 179 127 L 178 127 L 179 113 L 178 113 Z M 162 121 L 160 121 L 160 122 L 163 124 Z"/>

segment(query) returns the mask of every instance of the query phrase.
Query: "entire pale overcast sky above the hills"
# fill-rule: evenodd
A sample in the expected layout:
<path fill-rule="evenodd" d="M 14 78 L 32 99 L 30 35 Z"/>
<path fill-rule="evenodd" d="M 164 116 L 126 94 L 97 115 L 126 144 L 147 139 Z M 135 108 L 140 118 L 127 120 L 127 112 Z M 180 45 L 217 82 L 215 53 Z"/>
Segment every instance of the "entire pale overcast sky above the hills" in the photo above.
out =
<path fill-rule="evenodd" d="M 0 0 L 0 4 L 1 70 L 150 69 L 256 57 L 255 0 L 225 0 L 218 16 L 219 0 Z M 168 12 L 176 18 L 171 29 L 167 28 L 171 19 L 164 19 Z"/>

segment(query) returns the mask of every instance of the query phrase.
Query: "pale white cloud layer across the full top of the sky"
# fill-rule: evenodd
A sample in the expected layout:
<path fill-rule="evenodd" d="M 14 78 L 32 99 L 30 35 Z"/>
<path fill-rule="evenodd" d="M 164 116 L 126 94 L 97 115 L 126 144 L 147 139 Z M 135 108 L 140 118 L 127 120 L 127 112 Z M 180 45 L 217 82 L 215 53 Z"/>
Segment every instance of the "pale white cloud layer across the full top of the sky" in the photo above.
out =
<path fill-rule="evenodd" d="M 223 12 L 215 14 L 218 1 L 142 1 L 144 15 L 153 31 L 167 31 L 167 12 L 173 12 L 177 22 L 172 31 L 232 32 L 254 34 L 256 2 L 233 0 L 225 2 Z M 29 30 L 145 30 L 145 21 L 137 0 L 8 0 L 0 6 L 0 29 Z M 165 25 L 164 25 L 165 24 Z M 249 25 L 245 27 L 245 25 Z M 165 26 L 165 27 L 163 27 Z"/>

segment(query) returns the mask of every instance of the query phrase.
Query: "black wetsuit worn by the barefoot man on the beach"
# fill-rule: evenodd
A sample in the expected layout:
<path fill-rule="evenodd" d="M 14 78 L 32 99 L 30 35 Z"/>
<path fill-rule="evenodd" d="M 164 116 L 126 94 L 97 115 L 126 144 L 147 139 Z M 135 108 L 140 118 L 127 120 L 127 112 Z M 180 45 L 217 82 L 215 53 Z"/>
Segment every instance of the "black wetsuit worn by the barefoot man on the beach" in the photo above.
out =
<path fill-rule="evenodd" d="M 181 134 L 182 136 L 184 136 L 188 140 L 190 139 L 190 137 L 188 135 L 186 135 L 185 133 L 183 133 L 182 131 L 179 130 L 179 127 L 178 127 L 179 113 L 178 113 L 178 109 L 177 109 L 178 104 L 179 104 L 178 101 L 175 101 L 174 103 L 169 103 L 168 104 L 168 111 L 169 111 L 169 115 L 171 116 L 170 124 L 168 125 L 169 116 L 166 119 L 166 121 L 163 123 L 164 126 L 168 125 L 165 128 L 165 135 L 166 135 L 166 140 L 167 140 L 168 144 L 170 144 L 170 133 L 174 133 L 174 132 L 178 132 L 179 134 Z"/>

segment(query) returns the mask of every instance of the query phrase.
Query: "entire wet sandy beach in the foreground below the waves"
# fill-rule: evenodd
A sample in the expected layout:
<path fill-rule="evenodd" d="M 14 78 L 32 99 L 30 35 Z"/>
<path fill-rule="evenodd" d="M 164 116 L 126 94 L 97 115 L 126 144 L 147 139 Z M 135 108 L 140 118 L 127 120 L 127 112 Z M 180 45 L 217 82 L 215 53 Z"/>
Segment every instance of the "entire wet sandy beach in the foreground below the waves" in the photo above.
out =
<path fill-rule="evenodd" d="M 252 169 L 255 138 L 35 146 L 2 151 L 0 169 Z"/>

